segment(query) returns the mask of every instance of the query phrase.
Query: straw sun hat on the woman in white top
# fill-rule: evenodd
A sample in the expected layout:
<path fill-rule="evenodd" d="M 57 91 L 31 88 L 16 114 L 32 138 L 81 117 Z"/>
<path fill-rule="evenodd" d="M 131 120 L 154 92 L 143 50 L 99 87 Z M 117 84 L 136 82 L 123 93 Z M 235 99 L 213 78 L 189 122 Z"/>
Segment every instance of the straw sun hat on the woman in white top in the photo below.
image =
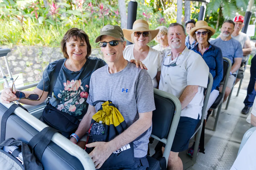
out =
<path fill-rule="evenodd" d="M 149 36 L 149 41 L 153 40 L 156 35 L 158 34 L 159 32 L 159 29 L 156 29 L 156 30 L 150 30 L 149 27 L 148 27 L 148 23 L 147 21 L 143 20 L 143 19 L 138 19 L 136 20 L 134 23 L 133 23 L 133 26 L 132 26 L 132 30 L 131 29 L 123 29 L 123 32 L 124 32 L 124 37 L 126 38 L 126 40 L 133 42 L 133 38 L 132 38 L 132 34 L 136 31 L 149 31 L 150 32 L 150 35 Z"/>

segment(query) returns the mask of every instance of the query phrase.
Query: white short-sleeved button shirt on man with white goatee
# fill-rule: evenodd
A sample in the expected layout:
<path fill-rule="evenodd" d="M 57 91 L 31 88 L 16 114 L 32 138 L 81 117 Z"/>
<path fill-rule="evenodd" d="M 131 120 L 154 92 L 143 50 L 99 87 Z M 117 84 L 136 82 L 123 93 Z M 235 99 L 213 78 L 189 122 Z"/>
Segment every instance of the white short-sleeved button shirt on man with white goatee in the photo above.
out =
<path fill-rule="evenodd" d="M 159 89 L 173 94 L 178 99 L 188 85 L 197 85 L 198 92 L 192 101 L 181 111 L 180 116 L 201 119 L 204 104 L 204 88 L 208 84 L 209 67 L 204 59 L 187 47 L 174 60 L 172 60 L 170 49 L 163 51 L 163 62 L 161 66 L 161 79 Z M 167 56 L 170 55 L 170 56 Z M 177 61 L 176 61 L 177 60 Z M 176 62 L 176 66 L 166 67 Z"/>

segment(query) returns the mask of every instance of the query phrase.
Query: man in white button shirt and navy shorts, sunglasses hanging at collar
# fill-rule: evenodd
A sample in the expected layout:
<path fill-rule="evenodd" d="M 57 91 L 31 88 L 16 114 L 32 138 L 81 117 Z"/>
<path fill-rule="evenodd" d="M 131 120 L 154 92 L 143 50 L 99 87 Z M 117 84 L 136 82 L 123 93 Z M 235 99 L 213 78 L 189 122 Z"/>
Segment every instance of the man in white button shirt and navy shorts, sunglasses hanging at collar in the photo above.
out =
<path fill-rule="evenodd" d="M 167 169 L 183 169 L 178 153 L 188 149 L 189 139 L 201 119 L 209 68 L 199 54 L 186 47 L 182 25 L 170 24 L 167 36 L 171 49 L 163 51 L 159 89 L 175 95 L 182 106 Z"/>

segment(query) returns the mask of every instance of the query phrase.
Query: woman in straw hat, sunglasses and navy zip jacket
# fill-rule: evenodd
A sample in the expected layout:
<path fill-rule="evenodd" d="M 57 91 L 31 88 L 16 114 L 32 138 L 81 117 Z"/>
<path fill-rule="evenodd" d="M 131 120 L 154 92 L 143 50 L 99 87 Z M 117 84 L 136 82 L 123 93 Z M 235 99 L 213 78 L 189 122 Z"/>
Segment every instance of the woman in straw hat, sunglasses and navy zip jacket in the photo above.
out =
<path fill-rule="evenodd" d="M 211 113 L 211 111 L 208 110 L 219 96 L 219 86 L 223 77 L 223 58 L 221 49 L 217 46 L 211 45 L 208 42 L 210 37 L 214 35 L 214 33 L 215 29 L 209 27 L 206 21 L 197 21 L 196 27 L 190 30 L 190 35 L 193 36 L 198 42 L 198 44 L 192 50 L 203 57 L 213 77 L 211 94 L 209 96 L 204 117 L 205 123 L 207 119 L 207 114 Z M 201 134 L 201 137 L 204 137 L 204 134 Z M 201 148 L 204 148 L 204 146 L 201 146 Z M 187 154 L 193 156 L 193 152 L 194 145 L 188 150 Z"/>

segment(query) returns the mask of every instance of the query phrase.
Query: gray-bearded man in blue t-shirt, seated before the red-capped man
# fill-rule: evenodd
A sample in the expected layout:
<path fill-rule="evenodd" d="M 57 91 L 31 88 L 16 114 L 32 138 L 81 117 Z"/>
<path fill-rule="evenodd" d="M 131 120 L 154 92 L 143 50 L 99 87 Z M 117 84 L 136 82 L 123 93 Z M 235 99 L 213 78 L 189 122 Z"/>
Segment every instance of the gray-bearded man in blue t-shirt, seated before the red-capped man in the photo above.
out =
<path fill-rule="evenodd" d="M 224 21 L 221 26 L 220 37 L 210 42 L 212 45 L 219 47 L 221 49 L 222 56 L 230 59 L 232 63 L 223 101 L 226 101 L 231 92 L 234 81 L 236 79 L 236 71 L 240 68 L 243 58 L 243 50 L 240 42 L 231 37 L 234 31 L 234 27 L 235 23 L 232 20 Z M 223 84 L 220 83 L 220 92 L 222 91 L 222 88 Z"/>

